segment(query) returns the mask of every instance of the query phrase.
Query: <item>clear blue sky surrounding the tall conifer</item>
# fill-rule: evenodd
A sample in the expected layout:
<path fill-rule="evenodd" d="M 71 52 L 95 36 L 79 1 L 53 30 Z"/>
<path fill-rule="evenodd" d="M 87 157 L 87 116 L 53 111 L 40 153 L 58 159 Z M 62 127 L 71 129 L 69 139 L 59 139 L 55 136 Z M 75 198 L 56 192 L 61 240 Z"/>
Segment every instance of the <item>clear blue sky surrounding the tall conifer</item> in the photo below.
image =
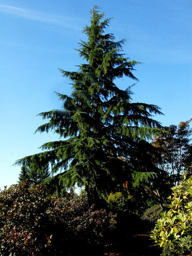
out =
<path fill-rule="evenodd" d="M 44 122 L 36 114 L 59 109 L 54 91 L 70 94 L 58 68 L 73 71 L 81 63 L 77 43 L 89 25 L 90 10 L 99 5 L 114 17 L 108 29 L 117 40 L 127 39 L 124 51 L 142 62 L 133 101 L 153 103 L 165 116 L 162 125 L 192 117 L 191 0 L 0 0 L 0 188 L 18 180 L 19 158 L 39 152 L 57 136 L 35 133 Z M 129 79 L 116 81 L 126 89 Z"/>

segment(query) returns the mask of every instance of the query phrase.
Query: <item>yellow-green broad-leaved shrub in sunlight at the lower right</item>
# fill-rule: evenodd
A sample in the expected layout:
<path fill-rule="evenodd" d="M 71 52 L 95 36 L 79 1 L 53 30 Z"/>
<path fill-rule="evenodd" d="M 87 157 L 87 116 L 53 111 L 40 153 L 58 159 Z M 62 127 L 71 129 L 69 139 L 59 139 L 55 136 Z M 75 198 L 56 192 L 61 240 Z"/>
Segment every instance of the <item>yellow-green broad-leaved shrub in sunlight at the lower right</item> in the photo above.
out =
<path fill-rule="evenodd" d="M 169 211 L 161 213 L 155 229 L 150 236 L 164 248 L 176 248 L 176 255 L 191 252 L 192 249 L 192 176 L 177 187 L 171 188 L 173 193 L 168 197 Z"/>

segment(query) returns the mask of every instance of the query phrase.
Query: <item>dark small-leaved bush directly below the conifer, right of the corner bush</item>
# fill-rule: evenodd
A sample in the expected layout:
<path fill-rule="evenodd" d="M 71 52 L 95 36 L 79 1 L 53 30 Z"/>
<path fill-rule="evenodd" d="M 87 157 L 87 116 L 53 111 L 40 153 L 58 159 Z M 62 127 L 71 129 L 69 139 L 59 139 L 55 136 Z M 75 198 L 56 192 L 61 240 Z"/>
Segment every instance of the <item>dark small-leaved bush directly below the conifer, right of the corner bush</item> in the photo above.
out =
<path fill-rule="evenodd" d="M 116 214 L 89 206 L 86 196 L 53 199 L 48 214 L 52 223 L 51 243 L 57 251 L 65 248 L 65 253 L 76 254 L 80 248 L 98 244 L 116 226 Z"/>

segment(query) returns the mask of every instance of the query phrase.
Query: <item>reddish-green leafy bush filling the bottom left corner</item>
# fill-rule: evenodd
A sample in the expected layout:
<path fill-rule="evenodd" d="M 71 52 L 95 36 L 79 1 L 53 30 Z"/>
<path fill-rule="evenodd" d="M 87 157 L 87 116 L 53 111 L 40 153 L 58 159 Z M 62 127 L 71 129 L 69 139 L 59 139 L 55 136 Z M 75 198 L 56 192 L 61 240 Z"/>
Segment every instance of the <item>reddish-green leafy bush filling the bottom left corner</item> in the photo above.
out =
<path fill-rule="evenodd" d="M 46 209 L 49 199 L 42 186 L 12 185 L 0 192 L 0 252 L 41 255 L 50 235 Z"/>

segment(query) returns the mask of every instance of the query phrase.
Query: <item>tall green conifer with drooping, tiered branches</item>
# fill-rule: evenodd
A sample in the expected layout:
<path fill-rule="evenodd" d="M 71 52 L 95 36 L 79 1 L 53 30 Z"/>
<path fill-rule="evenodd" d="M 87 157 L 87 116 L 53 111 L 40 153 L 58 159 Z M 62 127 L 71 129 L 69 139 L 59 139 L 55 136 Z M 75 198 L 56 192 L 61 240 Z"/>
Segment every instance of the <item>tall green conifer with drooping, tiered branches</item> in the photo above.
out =
<path fill-rule="evenodd" d="M 49 121 L 36 132 L 51 130 L 62 140 L 43 144 L 44 152 L 16 164 L 37 172 L 51 166 L 53 174 L 60 173 L 49 178 L 49 184 L 84 186 L 94 198 L 154 171 L 152 146 L 147 141 L 161 132 L 152 117 L 162 113 L 156 105 L 131 102 L 130 87 L 121 90 L 116 86 L 116 79 L 123 76 L 138 81 L 132 72 L 139 62 L 125 57 L 124 40 L 116 42 L 113 34 L 104 33 L 110 18 L 104 19 L 98 7 L 92 8 L 91 16 L 90 26 L 83 30 L 88 41 L 80 41 L 77 49 L 86 63 L 74 72 L 60 69 L 72 81 L 71 97 L 57 93 L 63 110 L 39 114 Z"/>

